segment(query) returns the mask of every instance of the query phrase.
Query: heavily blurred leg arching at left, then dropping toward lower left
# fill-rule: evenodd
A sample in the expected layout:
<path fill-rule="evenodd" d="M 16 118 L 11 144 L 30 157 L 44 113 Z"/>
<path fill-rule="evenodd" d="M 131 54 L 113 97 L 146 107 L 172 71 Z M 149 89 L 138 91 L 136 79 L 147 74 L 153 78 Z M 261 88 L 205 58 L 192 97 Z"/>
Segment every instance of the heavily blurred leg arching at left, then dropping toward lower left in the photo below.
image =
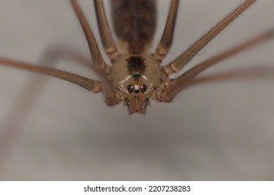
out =
<path fill-rule="evenodd" d="M 85 59 L 77 51 L 68 47 L 50 48 L 43 58 L 45 64 L 52 67 L 54 62 L 60 57 L 67 57 L 86 66 L 90 66 L 91 63 L 90 60 Z M 39 76 L 33 74 L 27 81 L 17 100 L 13 103 L 12 108 L 5 114 L 0 123 L 0 171 L 5 166 L 7 156 L 13 150 L 13 144 L 16 143 L 20 134 L 22 134 L 25 123 L 28 121 L 37 100 L 43 95 L 47 78 Z M 98 84 L 98 89 L 100 89 L 100 83 L 98 82 Z M 98 91 L 98 89 L 95 87 L 93 92 Z"/>

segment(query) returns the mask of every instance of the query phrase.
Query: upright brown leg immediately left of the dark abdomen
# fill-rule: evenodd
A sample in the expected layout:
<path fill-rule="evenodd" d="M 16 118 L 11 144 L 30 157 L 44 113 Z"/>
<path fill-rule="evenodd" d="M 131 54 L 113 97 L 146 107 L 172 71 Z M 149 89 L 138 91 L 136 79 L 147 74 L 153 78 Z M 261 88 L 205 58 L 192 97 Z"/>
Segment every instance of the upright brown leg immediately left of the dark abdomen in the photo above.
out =
<path fill-rule="evenodd" d="M 112 33 L 109 29 L 109 24 L 105 15 L 104 4 L 102 0 L 94 0 L 93 2 L 96 10 L 96 17 L 102 45 L 104 46 L 105 52 L 107 56 L 109 56 L 109 59 L 114 61 L 119 56 L 119 52 L 112 38 Z"/>

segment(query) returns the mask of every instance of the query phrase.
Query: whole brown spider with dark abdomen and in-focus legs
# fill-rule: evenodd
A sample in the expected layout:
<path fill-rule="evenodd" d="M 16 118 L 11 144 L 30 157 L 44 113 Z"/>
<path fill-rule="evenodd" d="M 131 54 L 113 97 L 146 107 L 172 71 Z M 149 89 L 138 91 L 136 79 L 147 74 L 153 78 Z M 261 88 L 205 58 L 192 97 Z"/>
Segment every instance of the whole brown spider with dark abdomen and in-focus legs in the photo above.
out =
<path fill-rule="evenodd" d="M 96 72 L 100 81 L 54 68 L 31 65 L 10 59 L 0 58 L 0 63 L 33 72 L 40 72 L 44 75 L 59 77 L 73 84 L 77 84 L 82 88 L 86 88 L 93 93 L 102 92 L 105 95 L 105 104 L 107 104 L 107 106 L 112 107 L 123 101 L 128 107 L 130 114 L 145 114 L 146 107 L 149 105 L 150 100 L 172 102 L 183 88 L 195 84 L 194 78 L 206 68 L 243 49 L 247 49 L 252 45 L 257 45 L 259 42 L 273 37 L 273 31 L 268 31 L 222 54 L 213 56 L 211 59 L 195 65 L 194 68 L 184 72 L 175 79 L 169 78 L 169 75 L 181 70 L 208 42 L 215 38 L 218 33 L 241 15 L 241 13 L 255 1 L 256 0 L 243 1 L 243 3 L 234 8 L 234 10 L 220 20 L 218 24 L 213 26 L 207 33 L 186 49 L 185 52 L 174 59 L 174 61 L 166 65 L 161 65 L 162 59 L 165 58 L 172 46 L 179 0 L 171 1 L 165 31 L 153 53 L 147 52 L 147 49 L 153 40 L 155 31 L 156 10 L 154 0 L 112 0 L 114 31 L 119 40 L 125 43 L 127 50 L 125 53 L 119 51 L 112 38 L 102 0 L 94 0 L 102 46 L 112 63 L 111 65 L 107 65 L 102 59 L 96 38 L 94 38 L 93 32 L 77 0 L 70 0 L 89 45 L 91 54 L 91 62 L 89 65 Z"/>

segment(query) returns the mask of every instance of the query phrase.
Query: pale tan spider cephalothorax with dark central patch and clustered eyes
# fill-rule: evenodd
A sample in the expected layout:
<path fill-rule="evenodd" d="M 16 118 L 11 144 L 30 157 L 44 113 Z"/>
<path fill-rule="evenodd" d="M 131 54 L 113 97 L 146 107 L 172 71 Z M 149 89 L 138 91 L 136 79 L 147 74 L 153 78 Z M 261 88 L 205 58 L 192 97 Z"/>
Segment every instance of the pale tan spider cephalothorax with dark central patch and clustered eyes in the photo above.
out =
<path fill-rule="evenodd" d="M 155 88 L 165 79 L 165 73 L 151 55 L 125 54 L 114 61 L 109 77 L 114 91 L 128 106 L 130 114 L 144 114 Z"/>

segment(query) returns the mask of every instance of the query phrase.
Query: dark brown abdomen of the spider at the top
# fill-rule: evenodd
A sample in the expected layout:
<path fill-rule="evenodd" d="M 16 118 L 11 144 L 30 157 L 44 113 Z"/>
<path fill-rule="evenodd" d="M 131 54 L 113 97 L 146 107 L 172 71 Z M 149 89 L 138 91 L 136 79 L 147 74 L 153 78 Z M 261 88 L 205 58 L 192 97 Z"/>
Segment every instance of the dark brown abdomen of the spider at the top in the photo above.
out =
<path fill-rule="evenodd" d="M 153 40 L 155 0 L 112 0 L 114 30 L 120 40 L 128 42 L 128 52 L 140 54 Z"/>

